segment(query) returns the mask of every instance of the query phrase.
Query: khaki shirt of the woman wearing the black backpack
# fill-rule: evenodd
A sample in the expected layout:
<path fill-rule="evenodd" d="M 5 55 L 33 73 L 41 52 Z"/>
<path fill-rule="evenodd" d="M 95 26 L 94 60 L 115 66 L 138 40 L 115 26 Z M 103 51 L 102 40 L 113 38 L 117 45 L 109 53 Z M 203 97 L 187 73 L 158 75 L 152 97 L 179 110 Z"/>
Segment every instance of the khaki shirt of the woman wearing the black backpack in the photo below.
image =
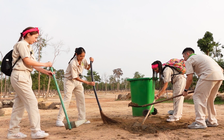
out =
<path fill-rule="evenodd" d="M 31 72 L 33 70 L 33 67 L 25 65 L 25 63 L 23 63 L 22 59 L 24 59 L 26 57 L 28 57 L 34 61 L 36 61 L 36 59 L 34 57 L 32 47 L 25 40 L 19 41 L 14 45 L 13 52 L 12 52 L 12 58 L 13 58 L 12 65 L 14 65 L 14 63 L 19 58 L 19 56 L 21 58 L 16 63 L 16 65 L 13 67 L 13 69 L 14 70 L 22 70 L 22 71 L 28 70 Z"/>

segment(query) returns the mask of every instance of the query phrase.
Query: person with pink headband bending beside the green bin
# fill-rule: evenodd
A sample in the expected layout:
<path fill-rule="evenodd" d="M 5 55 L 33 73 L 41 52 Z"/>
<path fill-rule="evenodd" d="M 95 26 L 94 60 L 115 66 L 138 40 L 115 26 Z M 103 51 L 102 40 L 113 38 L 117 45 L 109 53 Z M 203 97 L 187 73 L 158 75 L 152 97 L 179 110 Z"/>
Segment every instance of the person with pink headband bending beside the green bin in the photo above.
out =
<path fill-rule="evenodd" d="M 168 87 L 169 82 L 172 82 L 173 84 L 173 96 L 182 94 L 182 91 L 184 90 L 186 84 L 186 78 L 184 77 L 183 74 L 178 74 L 179 73 L 178 71 L 176 71 L 175 69 L 171 69 L 170 67 L 162 66 L 162 63 L 160 61 L 153 62 L 152 69 L 153 69 L 153 77 L 155 77 L 156 73 L 159 73 L 160 80 L 164 82 L 162 89 L 155 96 L 155 100 L 157 100 L 162 94 L 164 94 L 166 88 Z M 173 99 L 173 114 L 170 115 L 169 118 L 167 119 L 168 122 L 178 121 L 179 119 L 181 119 L 183 112 L 183 101 L 184 101 L 183 96 Z"/>

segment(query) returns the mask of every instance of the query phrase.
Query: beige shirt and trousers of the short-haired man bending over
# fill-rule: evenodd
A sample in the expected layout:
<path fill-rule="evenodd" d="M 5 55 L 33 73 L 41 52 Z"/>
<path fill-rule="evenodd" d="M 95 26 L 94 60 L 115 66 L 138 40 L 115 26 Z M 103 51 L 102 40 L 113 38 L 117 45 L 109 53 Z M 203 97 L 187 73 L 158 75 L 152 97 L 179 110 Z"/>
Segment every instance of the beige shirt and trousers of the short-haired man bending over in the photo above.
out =
<path fill-rule="evenodd" d="M 195 121 L 206 126 L 207 108 L 209 122 L 217 123 L 214 100 L 223 81 L 222 68 L 207 55 L 192 55 L 185 64 L 186 74 L 195 72 L 199 78 L 193 95 Z"/>

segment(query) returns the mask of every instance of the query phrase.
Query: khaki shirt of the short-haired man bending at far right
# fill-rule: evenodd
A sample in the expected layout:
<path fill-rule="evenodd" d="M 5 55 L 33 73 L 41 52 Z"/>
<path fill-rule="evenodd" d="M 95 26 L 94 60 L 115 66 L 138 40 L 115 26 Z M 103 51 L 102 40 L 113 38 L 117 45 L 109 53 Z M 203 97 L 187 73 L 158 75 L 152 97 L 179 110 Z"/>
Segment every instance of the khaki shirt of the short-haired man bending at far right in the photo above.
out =
<path fill-rule="evenodd" d="M 196 73 L 203 80 L 223 80 L 223 70 L 207 55 L 192 55 L 185 63 L 186 74 Z"/>

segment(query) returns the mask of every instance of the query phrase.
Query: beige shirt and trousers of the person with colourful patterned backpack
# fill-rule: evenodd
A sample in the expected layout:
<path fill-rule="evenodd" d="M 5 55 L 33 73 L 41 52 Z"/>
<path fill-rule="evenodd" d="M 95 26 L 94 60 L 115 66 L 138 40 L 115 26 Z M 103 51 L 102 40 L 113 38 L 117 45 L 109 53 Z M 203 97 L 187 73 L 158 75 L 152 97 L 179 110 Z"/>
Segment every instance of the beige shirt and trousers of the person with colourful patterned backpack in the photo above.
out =
<path fill-rule="evenodd" d="M 171 78 L 173 74 L 177 74 L 176 70 L 172 70 L 170 67 L 166 67 L 163 71 L 164 83 L 171 82 Z M 182 94 L 184 88 L 186 86 L 186 78 L 183 74 L 174 75 L 173 77 L 173 96 Z M 180 96 L 173 99 L 173 117 L 176 119 L 180 119 L 182 117 L 183 112 L 183 101 L 184 96 Z"/>

